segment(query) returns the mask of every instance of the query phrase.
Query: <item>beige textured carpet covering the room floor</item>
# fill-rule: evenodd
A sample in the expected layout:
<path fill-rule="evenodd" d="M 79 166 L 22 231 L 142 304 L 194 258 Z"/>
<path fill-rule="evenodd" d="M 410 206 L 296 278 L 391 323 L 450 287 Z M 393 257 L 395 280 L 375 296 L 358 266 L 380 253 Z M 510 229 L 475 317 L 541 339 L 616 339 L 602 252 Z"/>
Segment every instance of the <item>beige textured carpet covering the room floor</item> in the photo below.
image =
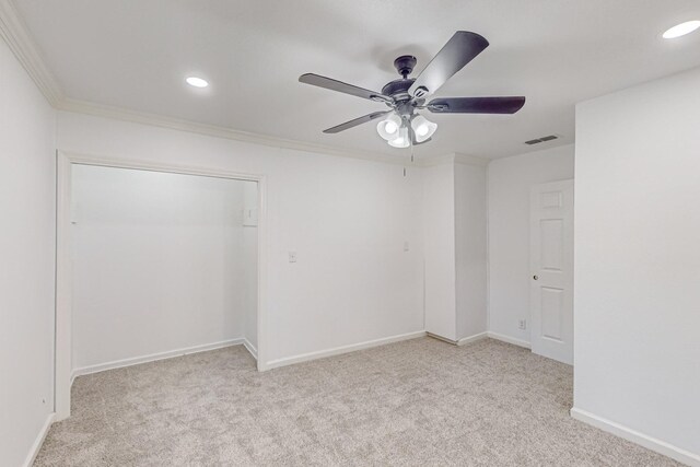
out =
<path fill-rule="evenodd" d="M 243 347 L 79 377 L 37 466 L 665 466 L 569 417 L 572 369 L 430 338 L 257 373 Z"/>

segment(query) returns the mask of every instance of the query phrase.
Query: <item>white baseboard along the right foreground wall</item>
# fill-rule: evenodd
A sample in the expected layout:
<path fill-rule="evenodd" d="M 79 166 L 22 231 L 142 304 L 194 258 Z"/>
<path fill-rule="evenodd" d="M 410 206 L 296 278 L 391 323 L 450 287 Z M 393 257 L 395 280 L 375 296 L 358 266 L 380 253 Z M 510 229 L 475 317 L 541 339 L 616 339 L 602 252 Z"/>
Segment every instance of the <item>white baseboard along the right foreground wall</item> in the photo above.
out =
<path fill-rule="evenodd" d="M 632 430 L 611 420 L 607 420 L 603 417 L 598 417 L 594 413 L 586 412 L 585 410 L 581 410 L 575 407 L 571 409 L 571 417 L 592 427 L 615 434 L 616 436 L 620 436 L 627 441 L 631 441 L 632 443 L 639 444 L 640 446 L 644 446 L 648 450 L 655 451 L 658 454 L 668 456 L 673 459 L 678 460 L 679 463 L 696 467 L 700 466 L 699 454 L 693 454 L 688 451 L 681 450 L 680 447 L 674 446 L 673 444 L 666 443 L 665 441 L 661 441 L 644 433 L 640 433 L 639 431 Z"/>

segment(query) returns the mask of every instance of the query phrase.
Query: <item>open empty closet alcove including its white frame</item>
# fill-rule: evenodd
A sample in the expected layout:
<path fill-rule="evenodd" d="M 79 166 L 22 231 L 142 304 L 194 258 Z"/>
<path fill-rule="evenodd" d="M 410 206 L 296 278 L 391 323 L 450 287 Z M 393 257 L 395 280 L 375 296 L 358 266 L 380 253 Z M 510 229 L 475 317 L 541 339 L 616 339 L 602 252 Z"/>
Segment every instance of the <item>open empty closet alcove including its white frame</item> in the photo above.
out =
<path fill-rule="evenodd" d="M 232 345 L 259 362 L 264 177 L 66 154 L 58 172 L 57 419 L 81 374 Z"/>

